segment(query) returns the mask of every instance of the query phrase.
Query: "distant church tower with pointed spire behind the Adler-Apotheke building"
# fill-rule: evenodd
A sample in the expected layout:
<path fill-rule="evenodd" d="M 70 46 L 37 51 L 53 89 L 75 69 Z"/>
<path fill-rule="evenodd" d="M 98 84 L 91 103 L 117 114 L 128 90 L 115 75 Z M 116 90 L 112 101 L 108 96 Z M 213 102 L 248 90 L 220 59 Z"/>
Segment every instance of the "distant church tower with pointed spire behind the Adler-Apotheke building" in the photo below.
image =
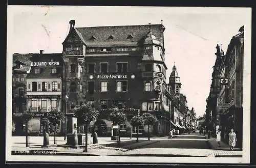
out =
<path fill-rule="evenodd" d="M 172 71 L 172 73 L 170 73 L 168 85 L 172 88 L 172 90 L 176 94 L 180 94 L 181 82 L 180 82 L 179 74 L 177 72 L 177 68 L 175 66 L 175 62 L 174 62 L 174 66 L 173 66 L 173 71 Z"/>

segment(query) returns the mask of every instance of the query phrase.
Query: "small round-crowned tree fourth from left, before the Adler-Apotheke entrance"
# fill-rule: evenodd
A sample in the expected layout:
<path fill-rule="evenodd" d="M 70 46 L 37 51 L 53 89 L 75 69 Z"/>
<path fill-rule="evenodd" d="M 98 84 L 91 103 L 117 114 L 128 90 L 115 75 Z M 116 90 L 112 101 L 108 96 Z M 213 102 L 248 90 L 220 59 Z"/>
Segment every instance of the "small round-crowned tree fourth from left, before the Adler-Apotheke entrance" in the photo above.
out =
<path fill-rule="evenodd" d="M 124 123 L 127 118 L 126 118 L 126 114 L 123 113 L 123 111 L 119 110 L 117 107 L 114 107 L 111 109 L 111 113 L 110 113 L 110 119 L 115 123 L 115 124 L 122 124 Z M 120 145 L 121 142 L 121 138 L 120 138 L 120 132 L 119 132 L 119 128 L 117 130 L 118 133 L 118 145 Z"/>

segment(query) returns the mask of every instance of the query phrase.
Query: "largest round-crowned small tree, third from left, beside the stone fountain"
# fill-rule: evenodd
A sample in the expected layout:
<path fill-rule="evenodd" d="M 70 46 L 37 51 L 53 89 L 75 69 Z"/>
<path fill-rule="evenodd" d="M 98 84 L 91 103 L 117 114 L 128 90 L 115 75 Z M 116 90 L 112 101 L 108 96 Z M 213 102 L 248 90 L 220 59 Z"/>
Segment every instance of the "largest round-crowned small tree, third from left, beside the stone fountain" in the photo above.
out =
<path fill-rule="evenodd" d="M 88 151 L 88 125 L 97 119 L 99 116 L 99 111 L 91 106 L 89 103 L 83 103 L 77 110 L 76 115 L 78 122 L 81 122 L 85 125 L 86 129 L 86 145 L 83 152 Z"/>

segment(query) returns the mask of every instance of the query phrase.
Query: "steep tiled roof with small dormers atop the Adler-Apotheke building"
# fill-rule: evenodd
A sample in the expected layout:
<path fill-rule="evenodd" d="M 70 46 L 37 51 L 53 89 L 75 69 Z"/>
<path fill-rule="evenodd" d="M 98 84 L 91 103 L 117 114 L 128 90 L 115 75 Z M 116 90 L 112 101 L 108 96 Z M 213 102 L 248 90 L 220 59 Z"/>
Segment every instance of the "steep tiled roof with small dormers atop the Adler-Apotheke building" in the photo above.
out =
<path fill-rule="evenodd" d="M 88 47 L 98 46 L 137 46 L 141 40 L 144 40 L 148 32 L 151 32 L 163 45 L 162 32 L 164 26 L 162 24 L 152 25 L 120 25 L 120 26 L 99 26 L 99 27 L 76 27 L 78 32 L 81 33 L 84 43 Z M 109 41 L 112 35 L 114 38 Z M 133 38 L 127 38 L 130 35 Z M 92 40 L 92 37 L 95 39 Z"/>

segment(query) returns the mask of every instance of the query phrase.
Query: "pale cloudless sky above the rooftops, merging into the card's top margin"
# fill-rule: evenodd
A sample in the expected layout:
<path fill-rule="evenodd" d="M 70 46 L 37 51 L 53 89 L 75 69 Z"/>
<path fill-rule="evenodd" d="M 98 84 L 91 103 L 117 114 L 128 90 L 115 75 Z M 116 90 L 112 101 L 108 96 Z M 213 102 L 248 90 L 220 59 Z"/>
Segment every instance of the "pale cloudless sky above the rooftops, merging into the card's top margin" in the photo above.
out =
<path fill-rule="evenodd" d="M 8 6 L 7 57 L 13 53 L 61 53 L 69 21 L 76 27 L 160 24 L 165 26 L 167 81 L 175 65 L 189 109 L 205 113 L 216 46 L 226 52 L 232 36 L 250 23 L 248 8 Z M 246 26 L 245 26 L 246 29 Z"/>

